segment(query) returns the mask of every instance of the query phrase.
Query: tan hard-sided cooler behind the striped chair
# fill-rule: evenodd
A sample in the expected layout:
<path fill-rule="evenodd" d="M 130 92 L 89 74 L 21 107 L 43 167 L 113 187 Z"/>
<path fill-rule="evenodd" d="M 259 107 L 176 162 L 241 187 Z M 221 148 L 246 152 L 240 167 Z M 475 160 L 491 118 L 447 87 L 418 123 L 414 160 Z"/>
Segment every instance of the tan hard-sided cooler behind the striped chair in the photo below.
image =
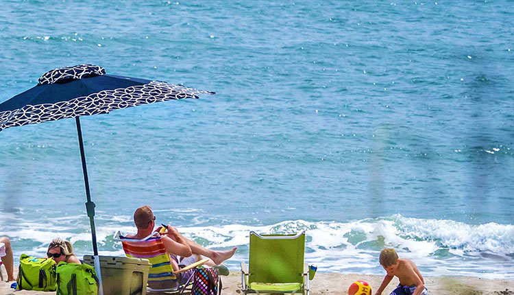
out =
<path fill-rule="evenodd" d="M 84 263 L 95 266 L 92 255 Z M 150 267 L 147 259 L 100 256 L 103 295 L 146 295 Z"/>

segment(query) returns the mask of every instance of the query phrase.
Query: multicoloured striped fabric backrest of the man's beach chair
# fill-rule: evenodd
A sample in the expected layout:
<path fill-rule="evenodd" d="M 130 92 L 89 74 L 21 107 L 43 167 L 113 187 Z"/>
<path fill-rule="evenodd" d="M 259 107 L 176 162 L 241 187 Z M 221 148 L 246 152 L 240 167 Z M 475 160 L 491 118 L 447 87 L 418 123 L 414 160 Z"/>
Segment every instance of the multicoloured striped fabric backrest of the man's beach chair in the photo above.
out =
<path fill-rule="evenodd" d="M 175 285 L 177 277 L 173 274 L 169 255 L 159 236 L 148 237 L 145 240 L 130 239 L 119 236 L 127 257 L 148 259 L 151 268 L 148 273 L 148 283 Z"/>

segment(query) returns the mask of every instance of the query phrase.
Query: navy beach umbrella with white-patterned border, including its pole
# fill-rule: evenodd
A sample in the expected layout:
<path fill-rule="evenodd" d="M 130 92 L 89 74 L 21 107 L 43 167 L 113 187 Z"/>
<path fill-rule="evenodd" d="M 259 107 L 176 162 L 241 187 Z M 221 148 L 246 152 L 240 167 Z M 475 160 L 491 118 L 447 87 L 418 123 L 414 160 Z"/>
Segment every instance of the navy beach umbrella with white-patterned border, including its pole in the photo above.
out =
<path fill-rule="evenodd" d="M 107 75 L 102 67 L 79 64 L 48 71 L 39 78 L 36 86 L 1 103 L 0 131 L 14 126 L 75 118 L 86 186 L 86 212 L 90 220 L 93 252 L 97 260 L 95 203 L 91 201 L 89 191 L 79 117 L 107 114 L 111 110 L 152 102 L 198 98 L 199 94 L 214 93 L 155 80 Z M 99 266 L 99 261 L 96 261 L 95 266 Z"/>

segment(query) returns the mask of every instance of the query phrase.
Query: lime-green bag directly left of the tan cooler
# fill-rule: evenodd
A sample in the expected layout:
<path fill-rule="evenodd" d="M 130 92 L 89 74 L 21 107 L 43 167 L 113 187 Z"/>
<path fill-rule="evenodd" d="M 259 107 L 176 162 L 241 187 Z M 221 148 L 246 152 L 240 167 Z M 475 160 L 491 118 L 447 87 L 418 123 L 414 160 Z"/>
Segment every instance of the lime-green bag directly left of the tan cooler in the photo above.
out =
<path fill-rule="evenodd" d="M 97 295 L 98 279 L 93 266 L 61 261 L 56 268 L 57 295 Z"/>

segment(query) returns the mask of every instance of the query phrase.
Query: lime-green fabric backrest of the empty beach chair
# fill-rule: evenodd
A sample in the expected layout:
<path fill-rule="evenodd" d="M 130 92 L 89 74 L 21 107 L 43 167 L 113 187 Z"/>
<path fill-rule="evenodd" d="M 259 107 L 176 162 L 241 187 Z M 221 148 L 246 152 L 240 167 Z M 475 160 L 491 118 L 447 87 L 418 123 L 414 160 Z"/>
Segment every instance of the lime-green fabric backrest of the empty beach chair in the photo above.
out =
<path fill-rule="evenodd" d="M 305 231 L 297 235 L 250 232 L 249 283 L 304 283 Z"/>

